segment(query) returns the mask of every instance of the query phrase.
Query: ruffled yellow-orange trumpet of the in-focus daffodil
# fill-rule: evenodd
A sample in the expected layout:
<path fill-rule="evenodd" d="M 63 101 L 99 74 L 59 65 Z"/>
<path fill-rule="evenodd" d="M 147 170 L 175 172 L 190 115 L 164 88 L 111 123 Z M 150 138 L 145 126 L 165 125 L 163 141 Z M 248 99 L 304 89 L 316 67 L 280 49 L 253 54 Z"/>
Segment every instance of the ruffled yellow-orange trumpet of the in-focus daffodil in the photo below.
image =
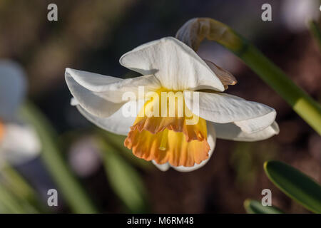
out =
<path fill-rule="evenodd" d="M 191 113 L 181 91 L 151 95 L 124 142 L 137 157 L 191 167 L 208 158 L 206 121 Z"/>

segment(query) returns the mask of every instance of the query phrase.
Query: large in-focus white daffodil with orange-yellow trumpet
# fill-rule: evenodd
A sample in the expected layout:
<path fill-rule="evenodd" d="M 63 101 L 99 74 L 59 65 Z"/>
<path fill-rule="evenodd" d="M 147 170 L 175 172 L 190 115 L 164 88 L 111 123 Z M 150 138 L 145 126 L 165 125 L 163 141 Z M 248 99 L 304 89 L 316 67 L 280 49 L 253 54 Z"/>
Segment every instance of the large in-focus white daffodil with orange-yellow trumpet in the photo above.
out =
<path fill-rule="evenodd" d="M 124 145 L 161 170 L 191 171 L 205 165 L 216 138 L 256 141 L 278 133 L 273 108 L 223 93 L 236 83 L 235 78 L 175 38 L 138 46 L 121 56 L 120 63 L 143 76 L 121 79 L 66 68 L 72 104 L 99 127 L 127 135 Z M 140 103 L 139 86 L 158 94 L 181 92 L 187 111 L 181 117 L 140 115 L 157 108 L 151 100 L 144 100 L 136 116 L 124 116 L 128 104 Z M 123 100 L 128 91 L 137 100 Z M 188 125 L 195 115 L 198 122 Z"/>

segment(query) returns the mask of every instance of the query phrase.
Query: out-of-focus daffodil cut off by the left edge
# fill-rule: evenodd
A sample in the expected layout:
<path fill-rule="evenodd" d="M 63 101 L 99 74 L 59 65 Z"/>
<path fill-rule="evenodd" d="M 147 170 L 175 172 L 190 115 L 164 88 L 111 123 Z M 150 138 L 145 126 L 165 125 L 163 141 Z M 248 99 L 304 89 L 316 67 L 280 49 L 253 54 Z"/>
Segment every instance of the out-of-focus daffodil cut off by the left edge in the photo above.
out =
<path fill-rule="evenodd" d="M 12 61 L 0 61 L 0 167 L 6 162 L 27 162 L 41 150 L 34 128 L 18 114 L 25 92 L 21 67 Z"/>

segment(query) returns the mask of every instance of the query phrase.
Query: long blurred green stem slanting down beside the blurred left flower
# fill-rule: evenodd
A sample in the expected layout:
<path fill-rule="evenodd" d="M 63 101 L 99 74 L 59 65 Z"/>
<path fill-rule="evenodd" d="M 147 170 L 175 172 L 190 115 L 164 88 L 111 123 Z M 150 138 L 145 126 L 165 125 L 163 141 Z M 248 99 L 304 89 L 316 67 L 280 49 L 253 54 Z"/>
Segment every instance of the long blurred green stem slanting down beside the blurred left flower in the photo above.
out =
<path fill-rule="evenodd" d="M 26 103 L 21 108 L 21 114 L 34 126 L 38 133 L 43 147 L 41 158 L 73 212 L 96 213 L 97 209 L 63 160 L 63 156 L 56 145 L 56 134 L 48 120 L 31 103 Z"/>

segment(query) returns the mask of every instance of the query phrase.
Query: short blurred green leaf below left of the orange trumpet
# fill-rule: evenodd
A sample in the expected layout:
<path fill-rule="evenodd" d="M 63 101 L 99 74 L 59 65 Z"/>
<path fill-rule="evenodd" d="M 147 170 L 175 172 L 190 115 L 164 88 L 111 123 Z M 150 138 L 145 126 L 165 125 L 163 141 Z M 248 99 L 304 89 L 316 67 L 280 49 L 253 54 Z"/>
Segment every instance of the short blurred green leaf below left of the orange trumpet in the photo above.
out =
<path fill-rule="evenodd" d="M 111 187 L 130 212 L 143 213 L 147 210 L 147 191 L 138 172 L 123 160 L 118 150 L 99 138 L 106 175 Z"/>

